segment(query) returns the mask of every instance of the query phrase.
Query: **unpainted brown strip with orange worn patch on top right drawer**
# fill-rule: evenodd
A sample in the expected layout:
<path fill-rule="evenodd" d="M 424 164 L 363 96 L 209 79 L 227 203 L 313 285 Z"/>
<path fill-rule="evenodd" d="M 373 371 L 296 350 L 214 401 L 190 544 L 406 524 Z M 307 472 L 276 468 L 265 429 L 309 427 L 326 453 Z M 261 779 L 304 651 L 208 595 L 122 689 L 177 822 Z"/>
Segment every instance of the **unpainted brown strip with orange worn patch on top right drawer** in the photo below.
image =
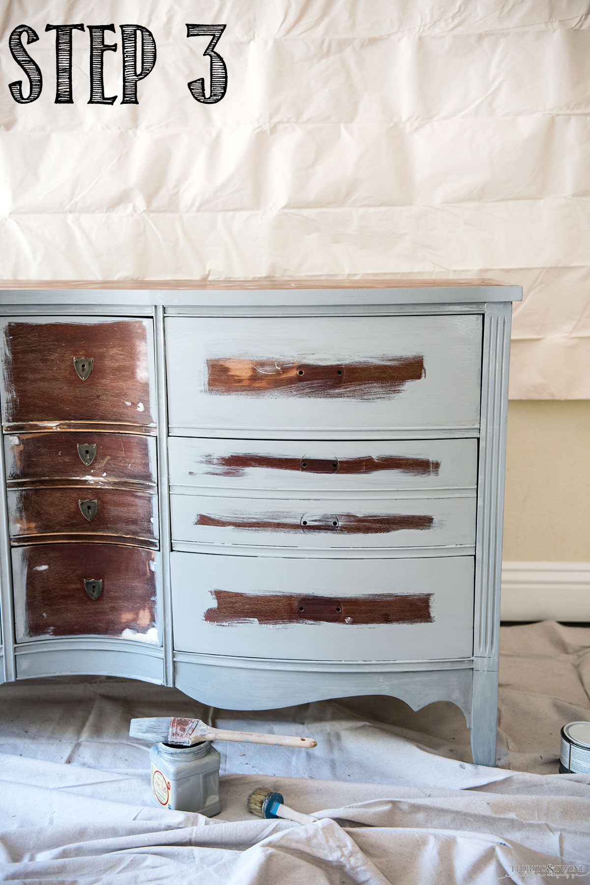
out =
<path fill-rule="evenodd" d="M 207 360 L 207 372 L 212 394 L 379 399 L 424 378 L 425 366 L 420 356 L 337 365 L 216 358 Z"/>

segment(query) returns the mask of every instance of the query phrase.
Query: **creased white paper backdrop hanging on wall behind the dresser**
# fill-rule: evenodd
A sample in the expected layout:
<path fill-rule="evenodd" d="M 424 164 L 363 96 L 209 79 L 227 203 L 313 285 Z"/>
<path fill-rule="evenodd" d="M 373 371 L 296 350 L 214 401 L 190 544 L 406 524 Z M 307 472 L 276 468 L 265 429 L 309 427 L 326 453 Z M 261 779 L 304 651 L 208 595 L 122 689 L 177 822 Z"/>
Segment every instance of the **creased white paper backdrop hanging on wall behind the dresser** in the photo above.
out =
<path fill-rule="evenodd" d="M 218 104 L 187 22 L 226 24 Z M 48 23 L 116 26 L 115 104 L 88 104 L 88 27 L 54 103 Z M 157 42 L 136 105 L 127 23 Z M 590 398 L 587 0 L 11 0 L 0 32 L 0 278 L 490 276 L 525 288 L 511 396 Z"/>

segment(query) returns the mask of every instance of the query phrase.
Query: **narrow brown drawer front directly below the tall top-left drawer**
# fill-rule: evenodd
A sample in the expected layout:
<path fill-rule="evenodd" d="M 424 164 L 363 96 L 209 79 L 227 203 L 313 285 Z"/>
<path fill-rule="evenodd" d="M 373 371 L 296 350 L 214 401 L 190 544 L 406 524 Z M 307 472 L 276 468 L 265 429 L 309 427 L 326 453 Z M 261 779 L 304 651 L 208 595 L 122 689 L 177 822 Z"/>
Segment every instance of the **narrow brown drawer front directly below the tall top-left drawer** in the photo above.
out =
<path fill-rule="evenodd" d="M 156 440 L 131 434 L 39 433 L 4 438 L 12 484 L 40 480 L 155 483 Z"/>

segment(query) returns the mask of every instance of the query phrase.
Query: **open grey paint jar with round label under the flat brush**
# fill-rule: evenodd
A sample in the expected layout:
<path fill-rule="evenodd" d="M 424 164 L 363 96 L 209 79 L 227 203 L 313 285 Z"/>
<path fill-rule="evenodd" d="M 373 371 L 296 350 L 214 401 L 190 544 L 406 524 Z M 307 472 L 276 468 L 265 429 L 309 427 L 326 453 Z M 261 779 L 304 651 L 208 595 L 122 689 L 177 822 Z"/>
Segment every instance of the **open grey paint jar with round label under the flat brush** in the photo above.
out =
<path fill-rule="evenodd" d="M 151 804 L 211 818 L 221 811 L 219 762 L 211 741 L 193 747 L 157 743 L 149 750 Z"/>

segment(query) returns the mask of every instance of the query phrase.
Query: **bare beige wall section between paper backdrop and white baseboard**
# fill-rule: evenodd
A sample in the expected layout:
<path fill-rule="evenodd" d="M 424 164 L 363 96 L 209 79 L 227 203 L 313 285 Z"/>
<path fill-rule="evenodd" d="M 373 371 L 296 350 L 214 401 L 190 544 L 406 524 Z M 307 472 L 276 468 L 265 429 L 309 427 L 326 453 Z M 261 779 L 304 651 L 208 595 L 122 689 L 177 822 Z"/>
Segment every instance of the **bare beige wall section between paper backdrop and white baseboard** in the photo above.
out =
<path fill-rule="evenodd" d="M 590 562 L 590 400 L 512 400 L 504 561 Z"/>

